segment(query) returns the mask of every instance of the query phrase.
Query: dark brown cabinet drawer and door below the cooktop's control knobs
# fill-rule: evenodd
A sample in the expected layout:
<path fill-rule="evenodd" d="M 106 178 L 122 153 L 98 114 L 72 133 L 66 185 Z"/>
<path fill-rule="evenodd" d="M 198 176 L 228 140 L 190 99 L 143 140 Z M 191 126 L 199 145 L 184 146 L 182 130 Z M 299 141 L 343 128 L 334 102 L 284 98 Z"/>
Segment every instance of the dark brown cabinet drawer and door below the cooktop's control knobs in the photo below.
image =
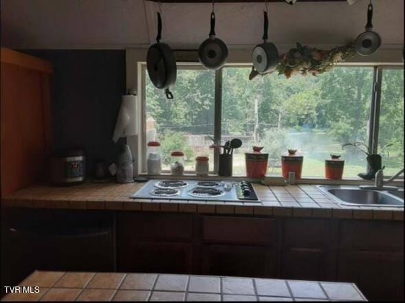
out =
<path fill-rule="evenodd" d="M 202 273 L 277 277 L 277 231 L 272 218 L 204 216 Z"/>

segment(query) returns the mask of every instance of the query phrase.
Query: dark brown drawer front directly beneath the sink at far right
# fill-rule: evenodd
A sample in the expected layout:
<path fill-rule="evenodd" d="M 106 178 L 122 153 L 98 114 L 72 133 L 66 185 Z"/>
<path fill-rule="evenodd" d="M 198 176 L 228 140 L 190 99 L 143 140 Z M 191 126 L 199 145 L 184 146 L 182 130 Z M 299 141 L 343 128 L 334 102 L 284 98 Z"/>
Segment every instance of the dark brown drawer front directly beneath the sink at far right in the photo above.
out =
<path fill-rule="evenodd" d="M 344 249 L 404 249 L 404 223 L 388 221 L 342 221 L 340 247 Z"/>

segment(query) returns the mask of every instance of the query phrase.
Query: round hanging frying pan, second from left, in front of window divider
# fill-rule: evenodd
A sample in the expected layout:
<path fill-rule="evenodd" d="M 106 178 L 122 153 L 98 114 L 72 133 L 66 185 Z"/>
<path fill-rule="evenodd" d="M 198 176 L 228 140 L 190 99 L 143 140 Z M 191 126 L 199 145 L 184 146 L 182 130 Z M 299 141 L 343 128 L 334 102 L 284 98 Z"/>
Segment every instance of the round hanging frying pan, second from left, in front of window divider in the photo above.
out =
<path fill-rule="evenodd" d="M 206 39 L 198 49 L 199 62 L 206 69 L 220 69 L 228 58 L 228 47 L 219 38 L 215 38 L 215 12 L 211 12 L 210 38 Z"/>

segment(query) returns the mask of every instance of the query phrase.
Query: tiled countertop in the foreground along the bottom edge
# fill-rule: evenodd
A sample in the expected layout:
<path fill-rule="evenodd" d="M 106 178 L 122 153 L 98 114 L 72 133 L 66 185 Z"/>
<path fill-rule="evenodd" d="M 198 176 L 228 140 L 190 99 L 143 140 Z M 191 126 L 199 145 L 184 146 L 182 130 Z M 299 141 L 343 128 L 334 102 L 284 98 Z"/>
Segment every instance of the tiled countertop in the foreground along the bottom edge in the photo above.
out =
<path fill-rule="evenodd" d="M 366 301 L 355 284 L 155 273 L 34 271 L 3 301 Z"/>

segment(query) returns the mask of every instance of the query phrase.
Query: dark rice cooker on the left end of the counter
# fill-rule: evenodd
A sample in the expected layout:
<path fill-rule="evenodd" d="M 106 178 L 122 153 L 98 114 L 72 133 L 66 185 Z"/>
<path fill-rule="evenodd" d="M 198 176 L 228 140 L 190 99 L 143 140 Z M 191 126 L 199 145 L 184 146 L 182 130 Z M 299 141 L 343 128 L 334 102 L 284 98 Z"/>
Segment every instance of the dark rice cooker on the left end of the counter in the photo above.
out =
<path fill-rule="evenodd" d="M 56 186 L 80 184 L 86 177 L 86 157 L 83 150 L 60 150 L 50 159 L 50 182 Z"/>

